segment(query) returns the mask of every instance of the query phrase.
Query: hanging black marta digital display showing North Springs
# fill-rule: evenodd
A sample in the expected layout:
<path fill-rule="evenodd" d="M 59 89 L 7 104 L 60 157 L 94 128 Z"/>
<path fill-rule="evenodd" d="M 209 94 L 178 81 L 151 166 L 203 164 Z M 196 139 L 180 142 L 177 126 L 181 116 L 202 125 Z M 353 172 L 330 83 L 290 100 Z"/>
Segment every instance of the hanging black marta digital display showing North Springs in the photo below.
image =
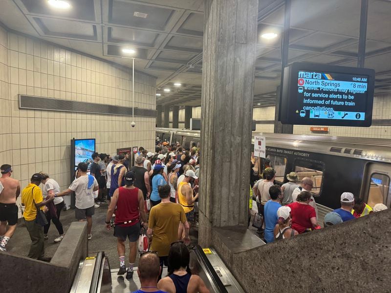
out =
<path fill-rule="evenodd" d="M 293 63 L 284 70 L 283 124 L 370 126 L 374 70 Z"/>

